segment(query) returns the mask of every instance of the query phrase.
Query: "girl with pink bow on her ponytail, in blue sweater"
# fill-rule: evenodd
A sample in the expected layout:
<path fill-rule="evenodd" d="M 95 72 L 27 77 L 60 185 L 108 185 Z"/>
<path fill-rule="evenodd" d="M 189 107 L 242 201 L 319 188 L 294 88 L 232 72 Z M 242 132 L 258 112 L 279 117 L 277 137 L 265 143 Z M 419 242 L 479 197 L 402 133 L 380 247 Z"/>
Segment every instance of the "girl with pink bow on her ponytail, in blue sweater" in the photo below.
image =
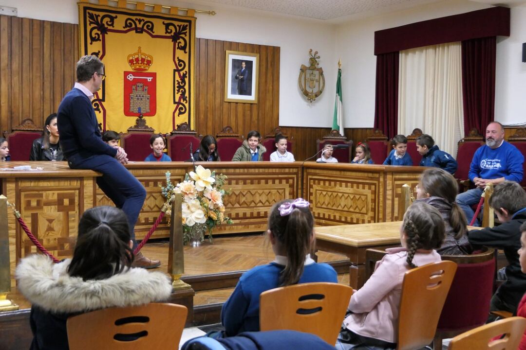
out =
<path fill-rule="evenodd" d="M 314 219 L 305 199 L 282 200 L 270 209 L 267 235 L 276 259 L 241 276 L 221 310 L 225 332 L 214 336 L 259 331 L 259 294 L 262 292 L 297 283 L 338 282 L 336 271 L 330 265 L 310 258 L 313 227 Z"/>

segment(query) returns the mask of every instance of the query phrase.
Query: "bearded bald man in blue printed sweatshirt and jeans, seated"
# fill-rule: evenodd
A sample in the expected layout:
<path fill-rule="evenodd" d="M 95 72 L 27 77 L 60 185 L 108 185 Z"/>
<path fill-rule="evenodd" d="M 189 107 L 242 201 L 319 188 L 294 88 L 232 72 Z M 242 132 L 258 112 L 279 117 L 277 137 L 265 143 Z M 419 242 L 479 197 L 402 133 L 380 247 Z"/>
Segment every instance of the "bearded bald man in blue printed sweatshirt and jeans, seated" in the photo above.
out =
<path fill-rule="evenodd" d="M 504 141 L 504 126 L 491 122 L 486 128 L 486 144 L 473 155 L 468 177 L 477 186 L 457 195 L 457 204 L 466 214 L 468 222 L 473 218 L 471 206 L 479 203 L 487 184 L 496 185 L 504 180 L 520 183 L 523 177 L 524 156 L 517 147 Z M 480 226 L 477 219 L 474 226 Z"/>

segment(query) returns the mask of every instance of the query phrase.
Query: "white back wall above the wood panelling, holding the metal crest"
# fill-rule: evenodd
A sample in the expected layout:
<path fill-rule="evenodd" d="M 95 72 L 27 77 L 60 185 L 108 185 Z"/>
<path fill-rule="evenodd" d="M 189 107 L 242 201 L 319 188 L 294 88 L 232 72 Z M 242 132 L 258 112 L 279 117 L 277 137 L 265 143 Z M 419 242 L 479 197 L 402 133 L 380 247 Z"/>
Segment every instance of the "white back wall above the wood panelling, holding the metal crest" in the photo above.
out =
<path fill-rule="evenodd" d="M 332 125 L 338 61 L 335 54 L 335 25 L 232 6 L 176 4 L 168 0 L 157 0 L 154 3 L 215 10 L 215 16 L 196 14 L 198 38 L 279 46 L 279 124 L 319 127 Z M 0 0 L 0 5 L 16 7 L 19 17 L 78 23 L 76 0 Z M 324 70 L 326 82 L 325 91 L 313 103 L 309 103 L 298 88 L 299 68 L 302 64 L 308 65 L 309 49 L 319 52 L 320 67 Z M 265 67 L 259 69 L 261 71 Z"/>

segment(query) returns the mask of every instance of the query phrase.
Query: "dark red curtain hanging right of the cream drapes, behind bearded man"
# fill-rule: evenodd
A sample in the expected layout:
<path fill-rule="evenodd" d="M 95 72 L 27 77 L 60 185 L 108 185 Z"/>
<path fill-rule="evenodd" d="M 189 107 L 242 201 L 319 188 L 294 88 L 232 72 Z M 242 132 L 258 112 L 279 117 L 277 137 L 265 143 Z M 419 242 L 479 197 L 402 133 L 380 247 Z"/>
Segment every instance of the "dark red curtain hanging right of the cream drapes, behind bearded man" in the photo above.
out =
<path fill-rule="evenodd" d="M 483 135 L 495 108 L 497 37 L 462 41 L 462 95 L 464 134 L 477 128 Z"/>

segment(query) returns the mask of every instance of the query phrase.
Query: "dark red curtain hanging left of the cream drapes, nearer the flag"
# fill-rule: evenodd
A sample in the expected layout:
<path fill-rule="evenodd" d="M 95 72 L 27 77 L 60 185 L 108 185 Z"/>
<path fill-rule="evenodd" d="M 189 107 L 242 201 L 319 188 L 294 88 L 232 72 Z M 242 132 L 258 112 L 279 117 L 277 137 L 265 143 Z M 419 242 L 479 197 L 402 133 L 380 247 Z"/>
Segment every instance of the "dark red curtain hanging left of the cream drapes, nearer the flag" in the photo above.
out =
<path fill-rule="evenodd" d="M 375 129 L 391 138 L 398 129 L 399 52 L 376 56 Z"/>

